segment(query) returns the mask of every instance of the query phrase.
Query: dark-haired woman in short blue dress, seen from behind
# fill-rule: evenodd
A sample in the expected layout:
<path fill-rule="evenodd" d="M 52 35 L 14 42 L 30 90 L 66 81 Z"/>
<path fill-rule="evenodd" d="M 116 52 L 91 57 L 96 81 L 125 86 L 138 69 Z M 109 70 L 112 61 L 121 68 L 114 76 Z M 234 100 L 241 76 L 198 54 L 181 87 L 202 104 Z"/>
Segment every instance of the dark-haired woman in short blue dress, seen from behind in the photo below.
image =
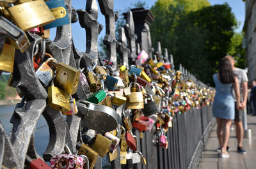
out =
<path fill-rule="evenodd" d="M 220 60 L 218 66 L 219 73 L 213 75 L 216 87 L 212 114 L 217 120 L 217 135 L 221 145 L 221 158 L 228 158 L 227 152 L 228 138 L 230 135 L 230 125 L 235 117 L 235 104 L 232 89 L 236 94 L 236 100 L 240 99 L 239 84 L 236 75 L 232 70 L 232 65 L 227 58 Z M 237 108 L 241 107 L 241 103 L 237 103 Z"/>

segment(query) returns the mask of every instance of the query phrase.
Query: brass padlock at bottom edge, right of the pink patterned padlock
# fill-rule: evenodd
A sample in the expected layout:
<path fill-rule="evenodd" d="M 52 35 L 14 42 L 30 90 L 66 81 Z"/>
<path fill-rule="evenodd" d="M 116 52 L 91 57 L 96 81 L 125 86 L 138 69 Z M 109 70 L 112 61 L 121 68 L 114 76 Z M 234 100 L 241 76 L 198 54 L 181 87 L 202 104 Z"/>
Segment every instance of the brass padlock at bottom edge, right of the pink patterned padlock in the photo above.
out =
<path fill-rule="evenodd" d="M 91 149 L 88 145 L 85 145 L 84 143 L 82 143 L 81 145 L 77 144 L 77 147 L 79 147 L 78 155 L 87 156 L 87 158 L 89 159 L 89 167 L 90 169 L 93 169 L 99 154 L 93 151 L 93 149 Z"/>

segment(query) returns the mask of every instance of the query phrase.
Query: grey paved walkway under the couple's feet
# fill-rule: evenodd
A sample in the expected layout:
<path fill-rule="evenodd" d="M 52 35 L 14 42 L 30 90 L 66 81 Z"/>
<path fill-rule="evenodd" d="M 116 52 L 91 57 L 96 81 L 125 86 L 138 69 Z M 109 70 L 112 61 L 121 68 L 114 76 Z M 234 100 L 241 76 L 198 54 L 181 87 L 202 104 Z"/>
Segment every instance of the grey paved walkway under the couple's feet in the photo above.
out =
<path fill-rule="evenodd" d="M 200 169 L 255 169 L 256 168 L 256 116 L 247 115 L 248 128 L 252 129 L 252 138 L 244 138 L 243 148 L 246 154 L 237 153 L 236 132 L 230 133 L 230 157 L 218 158 L 219 147 L 216 135 L 216 126 L 212 129 L 209 140 L 205 145 L 203 156 L 200 160 Z M 233 125 L 234 126 L 234 125 Z M 235 126 L 234 126 L 235 128 Z M 236 128 L 235 128 L 236 129 Z"/>

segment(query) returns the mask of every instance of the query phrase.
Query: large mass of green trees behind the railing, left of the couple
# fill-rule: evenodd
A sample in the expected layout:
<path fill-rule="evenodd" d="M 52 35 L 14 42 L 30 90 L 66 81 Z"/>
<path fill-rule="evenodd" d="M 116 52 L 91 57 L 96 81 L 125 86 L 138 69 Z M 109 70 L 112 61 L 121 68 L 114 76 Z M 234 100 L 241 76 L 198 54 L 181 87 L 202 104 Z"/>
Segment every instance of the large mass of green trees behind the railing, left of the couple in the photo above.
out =
<path fill-rule="evenodd" d="M 181 63 L 212 84 L 216 63 L 227 54 L 237 24 L 228 4 L 159 0 L 151 10 L 156 17 L 150 28 L 153 47 L 160 41 L 173 54 L 175 65 Z"/>

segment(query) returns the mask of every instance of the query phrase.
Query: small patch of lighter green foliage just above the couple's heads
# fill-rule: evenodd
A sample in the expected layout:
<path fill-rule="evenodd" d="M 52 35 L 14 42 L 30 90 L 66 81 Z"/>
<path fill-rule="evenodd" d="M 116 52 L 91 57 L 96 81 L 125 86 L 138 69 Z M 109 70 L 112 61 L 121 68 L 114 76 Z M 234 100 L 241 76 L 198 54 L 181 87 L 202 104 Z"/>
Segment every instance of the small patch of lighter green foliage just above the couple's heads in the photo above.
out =
<path fill-rule="evenodd" d="M 232 55 L 236 61 L 237 68 L 244 68 L 245 66 L 245 50 L 242 47 L 244 33 L 235 33 L 231 38 L 230 47 L 228 48 L 228 55 Z"/>

